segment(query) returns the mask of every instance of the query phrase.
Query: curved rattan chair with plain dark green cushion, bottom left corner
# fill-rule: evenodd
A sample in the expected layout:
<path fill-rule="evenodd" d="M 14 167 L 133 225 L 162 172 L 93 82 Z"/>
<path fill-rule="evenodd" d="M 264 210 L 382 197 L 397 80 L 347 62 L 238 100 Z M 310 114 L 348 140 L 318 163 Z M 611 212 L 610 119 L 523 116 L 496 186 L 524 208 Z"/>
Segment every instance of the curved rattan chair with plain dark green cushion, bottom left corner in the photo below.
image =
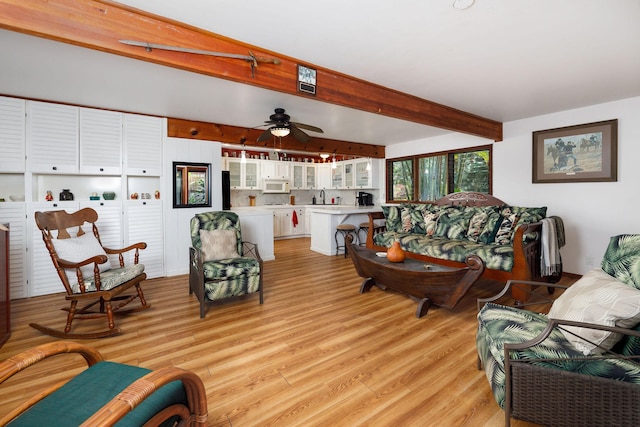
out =
<path fill-rule="evenodd" d="M 108 362 L 93 348 L 70 341 L 44 344 L 1 361 L 0 384 L 44 359 L 67 353 L 81 355 L 88 368 L 3 414 L 0 425 L 207 425 L 206 391 L 193 372 L 176 367 L 149 371 Z"/>

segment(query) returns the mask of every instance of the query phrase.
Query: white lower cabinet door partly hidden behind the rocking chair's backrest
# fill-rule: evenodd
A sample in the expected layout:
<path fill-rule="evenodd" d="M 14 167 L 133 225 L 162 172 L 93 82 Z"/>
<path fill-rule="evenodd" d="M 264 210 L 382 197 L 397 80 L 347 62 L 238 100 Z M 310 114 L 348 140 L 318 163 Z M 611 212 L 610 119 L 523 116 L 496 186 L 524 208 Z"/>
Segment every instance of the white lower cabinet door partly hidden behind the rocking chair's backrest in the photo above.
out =
<path fill-rule="evenodd" d="M 75 212 L 79 208 L 78 202 L 36 202 L 29 204 L 27 213 L 28 223 L 31 224 L 31 254 L 30 257 L 30 287 L 27 296 L 47 295 L 64 292 L 64 286 L 51 262 L 49 251 L 42 240 L 42 233 L 35 221 L 36 212 L 65 210 Z M 89 231 L 89 230 L 85 230 Z"/>

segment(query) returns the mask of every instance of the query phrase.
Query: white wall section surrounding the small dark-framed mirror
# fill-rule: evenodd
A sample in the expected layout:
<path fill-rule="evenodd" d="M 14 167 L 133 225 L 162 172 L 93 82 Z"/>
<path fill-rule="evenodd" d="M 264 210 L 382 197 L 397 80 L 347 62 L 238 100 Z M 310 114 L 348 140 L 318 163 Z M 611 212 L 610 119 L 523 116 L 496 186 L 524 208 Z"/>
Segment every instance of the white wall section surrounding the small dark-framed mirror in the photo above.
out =
<path fill-rule="evenodd" d="M 196 213 L 222 209 L 222 146 L 219 142 L 165 138 L 163 147 L 165 274 L 189 272 L 189 223 Z M 173 162 L 211 163 L 211 207 L 173 208 Z M 186 292 L 186 291 L 185 291 Z"/>

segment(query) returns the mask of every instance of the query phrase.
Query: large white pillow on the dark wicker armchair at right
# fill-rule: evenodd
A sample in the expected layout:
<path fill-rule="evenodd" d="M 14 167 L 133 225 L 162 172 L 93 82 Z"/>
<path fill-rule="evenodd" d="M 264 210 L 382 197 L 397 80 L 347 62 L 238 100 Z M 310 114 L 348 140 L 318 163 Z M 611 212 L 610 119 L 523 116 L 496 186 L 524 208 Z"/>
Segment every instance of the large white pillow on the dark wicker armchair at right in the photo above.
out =
<path fill-rule="evenodd" d="M 595 268 L 571 285 L 553 303 L 549 318 L 633 328 L 640 322 L 640 290 Z M 563 326 L 605 349 L 621 339 L 620 334 L 589 328 Z M 562 331 L 565 338 L 585 355 L 604 350 Z"/>

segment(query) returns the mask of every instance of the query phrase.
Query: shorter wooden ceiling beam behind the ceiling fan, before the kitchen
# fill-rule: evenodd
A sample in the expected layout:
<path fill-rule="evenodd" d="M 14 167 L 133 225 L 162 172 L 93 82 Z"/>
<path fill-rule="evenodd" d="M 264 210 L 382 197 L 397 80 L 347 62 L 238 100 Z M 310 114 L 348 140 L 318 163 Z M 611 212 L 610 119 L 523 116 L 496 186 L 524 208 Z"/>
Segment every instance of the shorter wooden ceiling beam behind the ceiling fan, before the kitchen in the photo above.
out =
<path fill-rule="evenodd" d="M 237 126 L 216 123 L 198 122 L 183 119 L 168 119 L 167 136 L 172 138 L 200 139 L 205 141 L 220 141 L 229 144 L 244 144 L 249 147 L 273 149 L 283 151 L 306 151 L 309 153 L 335 153 L 344 156 L 372 157 L 384 159 L 385 147 L 381 145 L 363 144 L 359 142 L 339 141 L 328 138 L 311 138 L 307 143 L 298 142 L 292 137 L 282 138 L 274 146 L 274 140 L 256 142 L 264 129 L 246 129 Z"/>

